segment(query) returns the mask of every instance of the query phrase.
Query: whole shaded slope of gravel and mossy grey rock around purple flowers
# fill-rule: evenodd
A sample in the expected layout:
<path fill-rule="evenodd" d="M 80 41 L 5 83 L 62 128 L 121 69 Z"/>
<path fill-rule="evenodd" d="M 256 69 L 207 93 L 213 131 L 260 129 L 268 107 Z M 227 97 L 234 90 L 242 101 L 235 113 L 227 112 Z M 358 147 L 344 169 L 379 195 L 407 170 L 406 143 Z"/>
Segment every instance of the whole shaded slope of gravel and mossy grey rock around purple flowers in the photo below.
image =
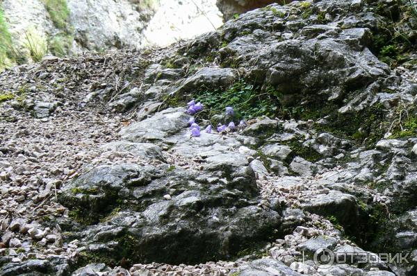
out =
<path fill-rule="evenodd" d="M 0 275 L 416 275 L 415 11 L 272 4 L 3 72 Z"/>

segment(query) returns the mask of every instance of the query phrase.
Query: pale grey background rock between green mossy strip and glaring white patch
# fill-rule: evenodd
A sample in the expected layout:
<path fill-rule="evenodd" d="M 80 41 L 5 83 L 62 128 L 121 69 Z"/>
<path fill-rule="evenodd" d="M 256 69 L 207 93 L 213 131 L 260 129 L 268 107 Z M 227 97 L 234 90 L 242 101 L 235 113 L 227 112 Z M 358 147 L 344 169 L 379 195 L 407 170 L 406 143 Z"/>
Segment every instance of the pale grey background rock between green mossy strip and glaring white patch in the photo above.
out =
<path fill-rule="evenodd" d="M 156 1 L 69 0 L 75 41 L 82 49 L 138 48 L 142 31 L 157 8 Z"/>

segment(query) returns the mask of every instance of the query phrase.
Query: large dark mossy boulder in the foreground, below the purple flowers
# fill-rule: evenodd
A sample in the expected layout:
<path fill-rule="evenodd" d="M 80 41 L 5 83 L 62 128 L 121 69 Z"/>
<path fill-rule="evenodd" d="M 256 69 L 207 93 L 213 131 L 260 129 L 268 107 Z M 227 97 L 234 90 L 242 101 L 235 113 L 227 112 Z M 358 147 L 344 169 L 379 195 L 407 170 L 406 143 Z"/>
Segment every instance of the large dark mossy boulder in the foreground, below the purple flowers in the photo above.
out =
<path fill-rule="evenodd" d="M 259 207 L 250 167 L 195 171 L 98 166 L 59 198 L 84 223 L 89 256 L 169 264 L 230 258 L 280 232 L 279 210 Z"/>

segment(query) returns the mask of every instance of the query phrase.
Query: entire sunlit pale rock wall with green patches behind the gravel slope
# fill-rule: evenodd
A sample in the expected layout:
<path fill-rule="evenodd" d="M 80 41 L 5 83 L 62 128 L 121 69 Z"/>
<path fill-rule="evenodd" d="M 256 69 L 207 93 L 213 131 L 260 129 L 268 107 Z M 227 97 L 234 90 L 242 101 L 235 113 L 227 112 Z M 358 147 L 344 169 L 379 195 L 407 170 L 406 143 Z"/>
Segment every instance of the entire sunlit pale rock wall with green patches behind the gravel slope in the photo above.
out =
<path fill-rule="evenodd" d="M 11 35 L 1 51 L 6 67 L 48 54 L 167 46 L 223 24 L 215 0 L 6 0 L 0 7 Z"/>

